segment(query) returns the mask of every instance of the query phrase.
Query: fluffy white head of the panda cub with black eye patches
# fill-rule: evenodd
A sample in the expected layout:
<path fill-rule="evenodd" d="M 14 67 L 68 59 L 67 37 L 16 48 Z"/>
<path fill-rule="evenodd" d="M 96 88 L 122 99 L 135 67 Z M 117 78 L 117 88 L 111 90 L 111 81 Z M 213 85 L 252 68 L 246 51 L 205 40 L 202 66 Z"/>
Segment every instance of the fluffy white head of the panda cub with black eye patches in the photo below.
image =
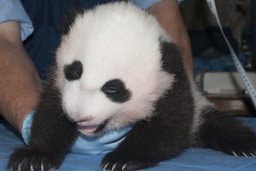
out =
<path fill-rule="evenodd" d="M 69 119 L 86 135 L 154 115 L 174 81 L 162 69 L 156 18 L 128 3 L 79 12 L 56 51 L 56 87 Z"/>

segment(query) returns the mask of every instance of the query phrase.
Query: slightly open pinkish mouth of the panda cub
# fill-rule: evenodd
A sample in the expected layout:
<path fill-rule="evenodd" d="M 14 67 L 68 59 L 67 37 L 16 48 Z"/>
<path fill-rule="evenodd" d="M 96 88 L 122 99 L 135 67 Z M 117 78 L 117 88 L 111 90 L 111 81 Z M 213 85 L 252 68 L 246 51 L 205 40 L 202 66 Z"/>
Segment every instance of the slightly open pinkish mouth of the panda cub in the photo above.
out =
<path fill-rule="evenodd" d="M 108 120 L 105 120 L 101 124 L 95 124 L 95 125 L 80 125 L 80 124 L 77 124 L 77 129 L 83 134 L 95 135 L 95 134 L 98 134 L 99 132 L 101 132 L 104 129 L 104 127 L 106 126 L 107 123 L 108 123 Z"/>

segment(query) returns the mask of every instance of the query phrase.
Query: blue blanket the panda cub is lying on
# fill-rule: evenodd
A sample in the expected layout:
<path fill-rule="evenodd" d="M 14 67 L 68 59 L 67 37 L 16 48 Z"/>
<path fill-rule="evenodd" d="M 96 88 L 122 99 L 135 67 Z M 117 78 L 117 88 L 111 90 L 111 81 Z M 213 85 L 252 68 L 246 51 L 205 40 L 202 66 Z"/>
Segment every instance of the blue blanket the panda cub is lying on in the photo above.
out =
<path fill-rule="evenodd" d="M 256 118 L 242 118 L 256 132 Z M 7 170 L 13 148 L 24 145 L 6 122 L 0 123 L 0 170 Z M 58 170 L 100 170 L 103 155 L 68 154 Z M 145 170 L 256 170 L 256 158 L 235 157 L 212 149 L 190 148 L 178 157 Z"/>

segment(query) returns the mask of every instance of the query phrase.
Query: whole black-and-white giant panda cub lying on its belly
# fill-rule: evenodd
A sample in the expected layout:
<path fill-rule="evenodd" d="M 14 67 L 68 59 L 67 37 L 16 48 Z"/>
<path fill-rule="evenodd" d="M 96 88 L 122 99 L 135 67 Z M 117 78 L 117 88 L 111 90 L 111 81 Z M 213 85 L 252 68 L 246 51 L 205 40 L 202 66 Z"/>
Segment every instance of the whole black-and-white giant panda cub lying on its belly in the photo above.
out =
<path fill-rule="evenodd" d="M 58 168 L 80 133 L 100 136 L 131 123 L 101 169 L 152 167 L 188 147 L 256 155 L 256 135 L 201 95 L 178 46 L 153 15 L 118 2 L 76 10 L 71 18 L 36 108 L 30 144 L 16 149 L 9 168 Z"/>

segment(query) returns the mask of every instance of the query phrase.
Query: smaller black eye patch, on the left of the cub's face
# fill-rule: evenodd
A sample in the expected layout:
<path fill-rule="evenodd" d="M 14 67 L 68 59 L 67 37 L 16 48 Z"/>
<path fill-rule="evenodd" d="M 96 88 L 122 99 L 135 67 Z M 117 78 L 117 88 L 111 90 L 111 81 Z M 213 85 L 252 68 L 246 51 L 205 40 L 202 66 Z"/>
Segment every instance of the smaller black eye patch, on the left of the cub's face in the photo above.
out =
<path fill-rule="evenodd" d="M 75 60 L 70 65 L 64 67 L 65 77 L 69 81 L 80 79 L 82 72 L 82 63 L 78 60 Z"/>

